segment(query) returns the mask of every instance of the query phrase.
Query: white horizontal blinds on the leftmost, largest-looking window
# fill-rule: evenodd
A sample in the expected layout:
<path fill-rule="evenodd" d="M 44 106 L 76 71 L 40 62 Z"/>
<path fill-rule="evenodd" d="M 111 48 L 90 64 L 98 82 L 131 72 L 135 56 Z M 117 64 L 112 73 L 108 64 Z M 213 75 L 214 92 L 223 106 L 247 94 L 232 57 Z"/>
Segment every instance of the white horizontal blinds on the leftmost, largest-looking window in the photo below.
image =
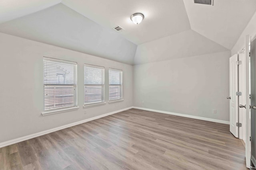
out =
<path fill-rule="evenodd" d="M 44 111 L 77 107 L 77 63 L 44 57 Z"/>

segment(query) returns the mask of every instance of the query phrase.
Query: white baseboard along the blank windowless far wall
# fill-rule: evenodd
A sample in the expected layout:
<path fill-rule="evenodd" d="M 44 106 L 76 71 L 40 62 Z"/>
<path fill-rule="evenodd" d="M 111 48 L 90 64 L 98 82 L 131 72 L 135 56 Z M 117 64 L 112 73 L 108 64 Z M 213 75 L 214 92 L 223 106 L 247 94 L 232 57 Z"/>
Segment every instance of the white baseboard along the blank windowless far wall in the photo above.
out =
<path fill-rule="evenodd" d="M 199 116 L 193 116 L 193 115 L 185 115 L 185 114 L 173 113 L 173 112 L 169 112 L 169 111 L 161 111 L 161 110 L 155 110 L 155 109 L 147 109 L 147 108 L 143 108 L 143 107 L 133 107 L 133 108 L 134 108 L 134 109 L 147 110 L 147 111 L 154 111 L 154 112 L 158 112 L 158 113 L 165 113 L 165 114 L 169 114 L 169 115 L 176 115 L 176 116 L 182 116 L 182 117 L 189 117 L 189 118 L 193 118 L 193 119 L 200 119 L 200 120 L 212 121 L 212 122 L 217 122 L 217 123 L 224 123 L 224 124 L 228 124 L 228 125 L 229 125 L 229 121 L 224 121 L 224 120 L 210 119 L 210 118 L 206 118 L 206 117 L 199 117 Z"/>

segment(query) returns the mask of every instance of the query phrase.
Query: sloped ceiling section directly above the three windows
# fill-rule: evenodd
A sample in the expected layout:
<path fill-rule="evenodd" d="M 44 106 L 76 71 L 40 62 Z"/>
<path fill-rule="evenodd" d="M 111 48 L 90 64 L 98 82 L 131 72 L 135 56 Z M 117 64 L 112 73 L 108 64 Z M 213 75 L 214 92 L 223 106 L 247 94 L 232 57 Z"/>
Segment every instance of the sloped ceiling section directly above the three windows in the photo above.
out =
<path fill-rule="evenodd" d="M 0 32 L 133 64 L 137 45 L 64 4 L 0 24 Z"/>

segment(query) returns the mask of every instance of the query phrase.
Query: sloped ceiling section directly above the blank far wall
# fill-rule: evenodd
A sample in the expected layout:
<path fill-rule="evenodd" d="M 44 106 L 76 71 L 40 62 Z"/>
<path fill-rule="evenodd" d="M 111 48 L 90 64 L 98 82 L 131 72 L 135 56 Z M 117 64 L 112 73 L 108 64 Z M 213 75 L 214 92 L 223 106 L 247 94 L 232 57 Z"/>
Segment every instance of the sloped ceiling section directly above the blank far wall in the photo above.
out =
<path fill-rule="evenodd" d="M 138 45 L 134 64 L 152 63 L 221 51 L 228 51 L 228 49 L 190 29 Z"/>

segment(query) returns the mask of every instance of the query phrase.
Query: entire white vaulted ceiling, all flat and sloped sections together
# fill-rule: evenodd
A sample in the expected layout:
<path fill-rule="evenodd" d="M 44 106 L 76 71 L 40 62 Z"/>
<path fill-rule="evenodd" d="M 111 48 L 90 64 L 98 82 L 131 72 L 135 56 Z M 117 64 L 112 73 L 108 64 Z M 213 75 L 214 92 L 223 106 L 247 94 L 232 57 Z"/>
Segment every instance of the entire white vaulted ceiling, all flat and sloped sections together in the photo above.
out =
<path fill-rule="evenodd" d="M 256 0 L 3 0 L 0 32 L 141 64 L 230 50 L 255 11 Z"/>

